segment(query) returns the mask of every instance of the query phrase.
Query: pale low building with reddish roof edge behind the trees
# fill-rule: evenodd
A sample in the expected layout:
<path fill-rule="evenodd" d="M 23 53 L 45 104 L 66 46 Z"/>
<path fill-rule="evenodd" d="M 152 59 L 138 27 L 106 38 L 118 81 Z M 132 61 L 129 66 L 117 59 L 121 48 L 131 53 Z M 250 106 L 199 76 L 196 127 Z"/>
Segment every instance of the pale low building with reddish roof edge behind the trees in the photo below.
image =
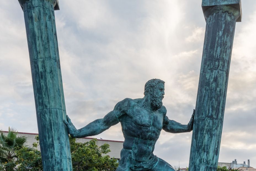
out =
<path fill-rule="evenodd" d="M 4 134 L 7 134 L 8 131 L 1 131 L 4 132 Z M 34 142 L 36 142 L 35 137 L 38 134 L 34 134 L 34 133 L 25 133 L 25 132 L 18 132 L 18 136 L 25 136 L 28 137 L 27 143 L 26 145 L 28 146 L 32 146 Z M 79 138 L 76 140 L 76 142 L 81 142 L 81 143 L 85 143 L 88 142 L 90 140 L 92 140 L 93 138 Z M 106 155 L 109 155 L 110 158 L 115 158 L 115 159 L 120 159 L 120 152 L 123 148 L 123 141 L 114 141 L 114 140 L 102 140 L 102 139 L 97 139 L 97 145 L 101 146 L 105 143 L 110 145 L 110 152 L 107 153 Z M 40 150 L 40 146 L 37 147 L 37 150 Z"/>

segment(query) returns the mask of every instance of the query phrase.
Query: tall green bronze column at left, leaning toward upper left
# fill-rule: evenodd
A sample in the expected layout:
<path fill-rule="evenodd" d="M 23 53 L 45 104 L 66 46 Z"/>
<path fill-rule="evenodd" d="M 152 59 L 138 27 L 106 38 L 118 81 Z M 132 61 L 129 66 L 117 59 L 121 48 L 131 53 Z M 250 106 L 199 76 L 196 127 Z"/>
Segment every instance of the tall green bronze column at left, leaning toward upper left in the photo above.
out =
<path fill-rule="evenodd" d="M 54 9 L 57 0 L 18 0 L 24 12 L 44 171 L 71 171 Z"/>

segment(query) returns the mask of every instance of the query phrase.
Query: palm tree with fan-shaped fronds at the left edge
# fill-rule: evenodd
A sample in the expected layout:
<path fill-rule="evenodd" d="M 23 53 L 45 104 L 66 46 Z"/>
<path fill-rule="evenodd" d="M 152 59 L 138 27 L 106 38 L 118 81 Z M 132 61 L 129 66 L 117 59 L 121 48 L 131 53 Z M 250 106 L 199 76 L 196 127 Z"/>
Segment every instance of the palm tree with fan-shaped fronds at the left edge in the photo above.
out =
<path fill-rule="evenodd" d="M 17 130 L 10 127 L 7 135 L 1 132 L 0 142 L 2 146 L 2 151 L 5 151 L 5 152 L 1 153 L 0 161 L 2 160 L 3 162 L 3 161 L 10 161 L 11 159 L 15 159 L 16 158 L 15 148 L 21 148 L 27 142 L 27 137 L 25 136 L 18 137 L 17 134 L 18 134 Z"/>

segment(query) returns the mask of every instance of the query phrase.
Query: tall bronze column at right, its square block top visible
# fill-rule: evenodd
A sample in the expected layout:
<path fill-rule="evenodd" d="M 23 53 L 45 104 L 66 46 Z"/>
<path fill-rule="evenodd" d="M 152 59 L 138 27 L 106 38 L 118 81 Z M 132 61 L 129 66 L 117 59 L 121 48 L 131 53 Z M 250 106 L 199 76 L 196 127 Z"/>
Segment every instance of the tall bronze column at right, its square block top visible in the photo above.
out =
<path fill-rule="evenodd" d="M 206 31 L 190 150 L 190 171 L 216 171 L 241 0 L 203 0 Z"/>

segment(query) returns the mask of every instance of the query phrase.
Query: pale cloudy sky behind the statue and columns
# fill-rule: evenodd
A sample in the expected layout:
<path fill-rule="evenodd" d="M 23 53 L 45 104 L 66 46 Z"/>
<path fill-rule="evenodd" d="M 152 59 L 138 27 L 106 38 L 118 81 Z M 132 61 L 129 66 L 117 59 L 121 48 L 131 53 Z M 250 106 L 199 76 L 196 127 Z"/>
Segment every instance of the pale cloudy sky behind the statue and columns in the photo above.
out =
<path fill-rule="evenodd" d="M 66 110 L 81 128 L 146 81 L 166 82 L 167 116 L 187 124 L 195 108 L 205 20 L 201 0 L 59 0 L 55 11 Z M 236 24 L 219 162 L 256 168 L 256 1 Z M 38 133 L 25 23 L 18 1 L 0 6 L 0 129 Z M 188 166 L 190 133 L 164 131 L 154 154 Z M 124 140 L 117 124 L 96 138 Z"/>

